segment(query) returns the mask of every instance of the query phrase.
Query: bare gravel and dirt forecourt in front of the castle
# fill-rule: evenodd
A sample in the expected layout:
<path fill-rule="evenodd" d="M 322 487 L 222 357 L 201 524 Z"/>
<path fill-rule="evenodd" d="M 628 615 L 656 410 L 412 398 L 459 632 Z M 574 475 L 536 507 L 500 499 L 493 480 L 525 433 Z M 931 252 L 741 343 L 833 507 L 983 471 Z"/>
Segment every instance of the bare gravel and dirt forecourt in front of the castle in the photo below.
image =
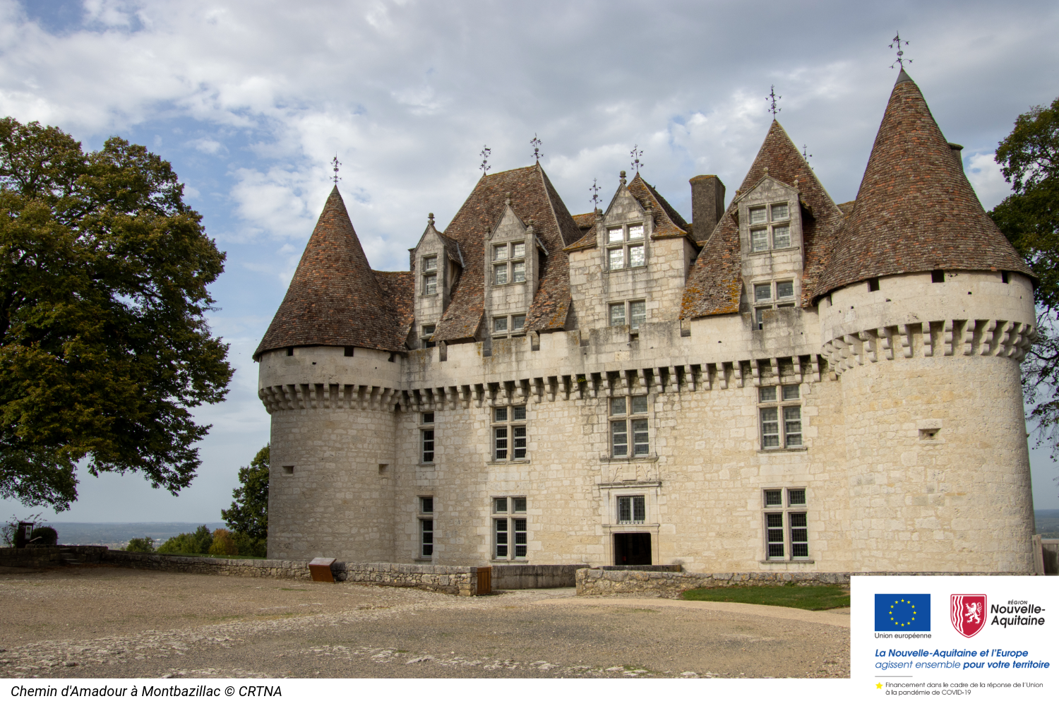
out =
<path fill-rule="evenodd" d="M 0 568 L 0 677 L 842 677 L 848 614 Z"/>

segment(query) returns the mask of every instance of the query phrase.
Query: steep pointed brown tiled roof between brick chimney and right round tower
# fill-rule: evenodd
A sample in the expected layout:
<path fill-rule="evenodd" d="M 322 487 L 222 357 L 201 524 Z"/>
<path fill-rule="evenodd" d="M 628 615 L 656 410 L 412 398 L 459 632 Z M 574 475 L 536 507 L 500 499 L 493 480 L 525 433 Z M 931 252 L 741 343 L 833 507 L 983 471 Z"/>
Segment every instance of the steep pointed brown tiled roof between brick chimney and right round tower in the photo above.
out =
<path fill-rule="evenodd" d="M 769 133 L 737 193 L 747 194 L 756 186 L 765 177 L 766 169 L 770 177 L 785 184 L 794 186 L 797 182 L 800 199 L 804 206 L 808 206 L 803 209 L 802 217 L 802 305 L 808 306 L 824 258 L 831 251 L 836 233 L 841 227 L 842 212 L 777 121 L 772 121 Z M 739 225 L 733 218 L 737 209 L 738 201 L 733 199 L 699 253 L 684 286 L 681 318 L 736 313 L 739 310 L 742 263 Z"/>

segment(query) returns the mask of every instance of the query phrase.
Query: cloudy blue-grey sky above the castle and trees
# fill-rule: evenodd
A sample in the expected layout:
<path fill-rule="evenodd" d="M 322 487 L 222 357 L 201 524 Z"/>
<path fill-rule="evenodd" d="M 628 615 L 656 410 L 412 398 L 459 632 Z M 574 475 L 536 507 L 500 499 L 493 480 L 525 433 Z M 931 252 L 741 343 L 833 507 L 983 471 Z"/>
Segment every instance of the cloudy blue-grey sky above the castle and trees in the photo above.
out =
<path fill-rule="evenodd" d="M 728 197 L 777 117 L 836 202 L 851 200 L 897 75 L 907 69 L 983 205 L 1008 193 L 993 151 L 1016 116 L 1056 97 L 1051 2 L 418 2 L 0 0 L 0 114 L 98 149 L 111 135 L 170 161 L 226 271 L 213 331 L 236 368 L 198 477 L 179 497 L 142 476 L 80 474 L 55 515 L 0 500 L 0 518 L 216 522 L 239 466 L 268 441 L 251 355 L 330 188 L 376 269 L 408 268 L 434 213 L 481 176 L 541 164 L 572 213 L 609 199 L 633 146 L 642 174 L 690 219 L 687 180 Z M 1059 508 L 1059 468 L 1030 454 L 1035 504 Z"/>

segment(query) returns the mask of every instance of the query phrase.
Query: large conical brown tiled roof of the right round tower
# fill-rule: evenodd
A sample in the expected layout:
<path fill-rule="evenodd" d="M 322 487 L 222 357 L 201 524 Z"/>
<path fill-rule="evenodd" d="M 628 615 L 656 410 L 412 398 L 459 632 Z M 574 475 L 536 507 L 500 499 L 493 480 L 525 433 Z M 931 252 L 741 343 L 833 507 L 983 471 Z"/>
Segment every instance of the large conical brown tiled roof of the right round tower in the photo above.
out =
<path fill-rule="evenodd" d="M 1035 276 L 982 209 L 919 87 L 902 70 L 857 207 L 814 295 L 869 277 L 945 269 Z"/>

